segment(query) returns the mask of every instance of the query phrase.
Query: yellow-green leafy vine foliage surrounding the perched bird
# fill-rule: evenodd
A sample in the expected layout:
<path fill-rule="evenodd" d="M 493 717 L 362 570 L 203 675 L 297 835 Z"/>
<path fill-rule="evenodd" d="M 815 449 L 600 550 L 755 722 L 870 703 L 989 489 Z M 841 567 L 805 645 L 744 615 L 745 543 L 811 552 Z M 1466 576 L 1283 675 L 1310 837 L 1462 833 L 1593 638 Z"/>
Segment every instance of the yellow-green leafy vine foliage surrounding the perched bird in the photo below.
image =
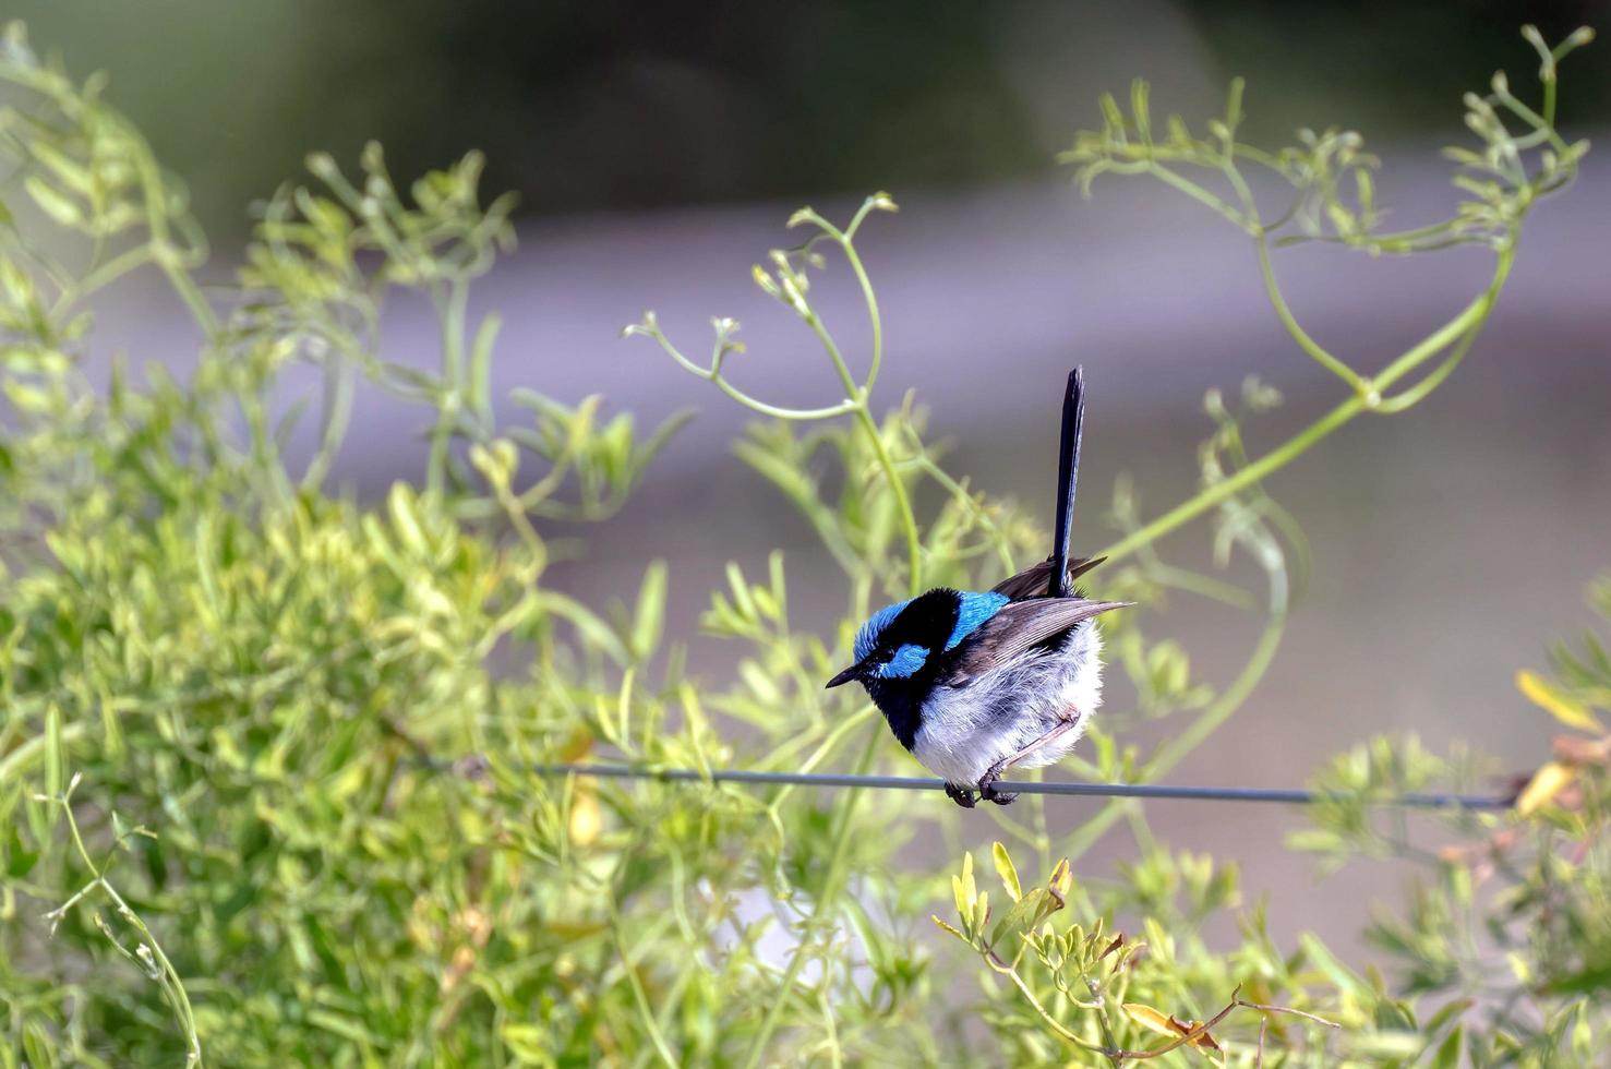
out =
<path fill-rule="evenodd" d="M 854 625 L 878 601 L 988 583 L 1044 551 L 1023 510 L 942 467 L 910 398 L 875 407 L 883 324 L 855 240 L 873 213 L 894 209 L 886 195 L 843 227 L 796 214 L 809 240 L 756 269 L 820 341 L 838 401 L 796 409 L 736 388 L 723 375 L 741 353 L 730 319 L 714 320 L 709 362 L 683 356 L 652 316 L 630 328 L 768 417 L 738 454 L 844 572 L 844 617 L 818 636 L 791 621 L 780 554 L 760 578 L 730 567 L 702 625 L 733 642 L 736 670 L 701 681 L 667 641 L 662 563 L 646 563 L 619 612 L 548 584 L 541 525 L 607 517 L 677 420 L 640 438 L 596 398 L 528 390 L 514 399 L 530 422 L 498 425 L 498 320 L 470 324 L 467 291 L 512 233 L 507 201 L 482 204 L 478 158 L 404 196 L 377 148 L 356 179 L 314 156 L 319 185 L 275 193 L 235 285 L 203 290 L 206 250 L 182 188 L 98 84 L 39 61 L 19 29 L 0 47 L 11 92 L 0 109 L 11 175 L 0 190 L 0 1064 L 1268 1055 L 1453 1066 L 1464 1055 L 1542 1066 L 1605 1053 L 1600 736 L 1558 744 L 1522 794 L 1526 813 L 1447 815 L 1440 853 L 1414 848 L 1373 802 L 1458 781 L 1464 758 L 1373 742 L 1321 778 L 1331 800 L 1295 845 L 1332 861 L 1432 866 L 1437 882 L 1408 918 L 1371 931 L 1408 963 L 1395 979 L 1352 969 L 1311 937 L 1278 947 L 1261 908 L 1240 903 L 1234 866 L 1158 844 L 1126 802 L 1066 832 L 1039 795 L 989 813 L 1004 894 L 992 908 L 963 855 L 957 922 L 941 922 L 957 948 L 921 921 L 946 900 L 944 876 L 902 855 L 909 840 L 962 853 L 957 811 L 933 797 L 872 805 L 863 790 L 535 771 L 593 755 L 701 771 L 909 771 L 872 707 L 822 689 Z M 1200 493 L 1147 522 L 1120 485 L 1102 592 L 1150 610 L 1207 597 L 1258 613 L 1261 626 L 1244 667 L 1216 683 L 1157 634 L 1160 612 L 1115 620 L 1108 642 L 1134 702 L 1112 702 L 1087 757 L 1066 763 L 1073 774 L 1170 773 L 1263 676 L 1303 546 L 1261 480 L 1353 415 L 1410 407 L 1481 330 L 1526 213 L 1579 155 L 1553 132 L 1563 50 L 1540 53 L 1547 98 L 1527 113 L 1530 134 L 1508 138 L 1471 106 L 1489 153 L 1477 164 L 1495 185 L 1472 190 L 1477 208 L 1439 232 L 1489 243 L 1493 282 L 1384 372 L 1366 378 L 1316 353 L 1268 272 L 1266 224 L 1250 201 L 1218 201 L 1255 237 L 1297 345 L 1340 369 L 1353 393 L 1258 457 L 1244 428 L 1279 398 L 1257 382 L 1234 404 L 1213 393 Z M 1521 114 L 1503 85 L 1493 101 Z M 1153 174 L 1205 200 L 1215 195 L 1174 164 L 1216 167 L 1236 188 L 1240 161 L 1268 159 L 1298 192 L 1298 225 L 1379 251 L 1439 243 L 1368 237 L 1366 172 L 1348 135 L 1258 158 L 1234 142 L 1232 108 L 1213 138 L 1171 132 L 1165 150 L 1145 103 L 1142 90 L 1129 119 L 1110 108 L 1108 127 L 1081 137 L 1075 158 L 1087 174 Z M 1534 150 L 1535 169 L 1518 171 Z M 1365 200 L 1345 208 L 1339 174 Z M 810 274 L 830 269 L 828 256 L 857 279 L 867 353 L 841 349 L 812 301 Z M 184 378 L 119 367 L 97 386 L 82 367 L 92 298 L 130 272 L 158 274 L 190 311 L 195 367 Z M 435 309 L 435 369 L 387 359 L 388 296 Z M 1419 383 L 1387 394 L 1440 353 Z M 301 365 L 319 372 L 308 396 L 288 374 Z M 398 483 L 369 504 L 325 489 L 359 390 L 424 414 L 419 488 Z M 308 407 L 319 412 L 316 448 L 293 464 L 287 443 Z M 1244 554 L 1261 589 L 1162 555 L 1163 533 L 1205 514 L 1218 560 Z M 1611 695 L 1605 646 L 1563 650 L 1556 670 L 1553 683 L 1529 676 L 1524 692 L 1558 721 L 1592 728 Z M 1163 741 L 1121 744 L 1144 720 L 1163 724 Z M 1134 860 L 1083 873 L 1081 856 L 1120 829 Z M 1203 932 L 1226 918 L 1242 939 L 1220 950 Z M 949 982 L 959 960 L 979 964 L 976 1000 Z M 1493 998 L 1493 961 L 1514 976 L 1508 1001 Z"/>

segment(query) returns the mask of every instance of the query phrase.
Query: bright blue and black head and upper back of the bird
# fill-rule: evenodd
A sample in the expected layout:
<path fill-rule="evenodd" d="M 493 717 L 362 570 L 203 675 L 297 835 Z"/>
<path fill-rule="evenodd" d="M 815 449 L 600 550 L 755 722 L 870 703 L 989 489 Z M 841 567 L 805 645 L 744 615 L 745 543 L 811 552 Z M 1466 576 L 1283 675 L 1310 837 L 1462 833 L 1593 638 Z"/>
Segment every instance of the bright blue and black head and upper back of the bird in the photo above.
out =
<path fill-rule="evenodd" d="M 855 663 L 828 686 L 859 679 L 876 697 L 878 683 L 917 681 L 936 654 L 955 649 L 1005 604 L 1002 594 L 941 588 L 884 605 L 855 633 Z"/>

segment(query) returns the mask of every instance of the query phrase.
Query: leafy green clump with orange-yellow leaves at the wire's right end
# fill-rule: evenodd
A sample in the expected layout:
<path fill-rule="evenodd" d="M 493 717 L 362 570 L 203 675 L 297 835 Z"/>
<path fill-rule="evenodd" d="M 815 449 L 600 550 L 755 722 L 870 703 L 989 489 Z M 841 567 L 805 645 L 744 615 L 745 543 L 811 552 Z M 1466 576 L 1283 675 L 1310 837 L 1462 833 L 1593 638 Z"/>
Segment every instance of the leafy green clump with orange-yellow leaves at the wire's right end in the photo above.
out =
<path fill-rule="evenodd" d="M 1611 621 L 1605 591 L 1601 580 L 1592 601 Z M 1374 856 L 1419 869 L 1406 913 L 1376 916 L 1366 937 L 1390 955 L 1402 990 L 1440 1006 L 1453 1058 L 1464 1043 L 1477 1066 L 1597 1064 L 1611 1050 L 1611 736 L 1593 716 L 1611 710 L 1611 660 L 1590 633 L 1580 652 L 1563 646 L 1555 662 L 1556 683 L 1524 671 L 1519 689 L 1558 721 L 1569 710 L 1579 731 L 1556 737 L 1555 760 L 1518 782 L 1516 815 L 1447 810 L 1435 821 L 1442 845 L 1418 844 L 1402 813 L 1371 802 L 1466 789 L 1484 770 L 1466 753 L 1431 755 L 1413 737 L 1373 739 L 1316 778 L 1331 802 L 1290 842 L 1331 865 Z"/>

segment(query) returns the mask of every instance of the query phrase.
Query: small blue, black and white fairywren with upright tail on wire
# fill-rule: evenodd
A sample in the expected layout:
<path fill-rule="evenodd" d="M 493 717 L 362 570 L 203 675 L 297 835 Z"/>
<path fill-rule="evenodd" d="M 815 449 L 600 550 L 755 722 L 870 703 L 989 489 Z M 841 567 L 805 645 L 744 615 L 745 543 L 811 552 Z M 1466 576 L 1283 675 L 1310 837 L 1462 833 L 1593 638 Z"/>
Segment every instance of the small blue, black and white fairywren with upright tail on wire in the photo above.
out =
<path fill-rule="evenodd" d="M 855 636 L 855 663 L 828 681 L 867 687 L 957 805 L 973 808 L 975 790 L 1012 802 L 994 787 L 1002 773 L 1066 757 L 1102 704 L 1095 617 L 1129 602 L 1086 601 L 1070 586 L 1102 563 L 1068 559 L 1083 419 L 1076 367 L 1063 398 L 1052 557 L 991 591 L 939 588 L 880 609 Z"/>

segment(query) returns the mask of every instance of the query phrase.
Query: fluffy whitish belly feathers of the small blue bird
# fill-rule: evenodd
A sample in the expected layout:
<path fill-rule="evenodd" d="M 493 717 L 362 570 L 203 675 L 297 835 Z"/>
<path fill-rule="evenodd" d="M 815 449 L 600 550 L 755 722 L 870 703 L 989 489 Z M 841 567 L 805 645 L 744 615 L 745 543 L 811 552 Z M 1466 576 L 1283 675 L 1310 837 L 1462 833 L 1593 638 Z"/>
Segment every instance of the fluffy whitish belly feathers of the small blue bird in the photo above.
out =
<path fill-rule="evenodd" d="M 1062 647 L 989 671 L 963 687 L 936 687 L 923 702 L 912 753 L 946 782 L 971 786 L 991 765 L 1065 721 L 1078 726 L 1013 768 L 1068 755 L 1102 704 L 1102 636 L 1086 620 Z"/>

